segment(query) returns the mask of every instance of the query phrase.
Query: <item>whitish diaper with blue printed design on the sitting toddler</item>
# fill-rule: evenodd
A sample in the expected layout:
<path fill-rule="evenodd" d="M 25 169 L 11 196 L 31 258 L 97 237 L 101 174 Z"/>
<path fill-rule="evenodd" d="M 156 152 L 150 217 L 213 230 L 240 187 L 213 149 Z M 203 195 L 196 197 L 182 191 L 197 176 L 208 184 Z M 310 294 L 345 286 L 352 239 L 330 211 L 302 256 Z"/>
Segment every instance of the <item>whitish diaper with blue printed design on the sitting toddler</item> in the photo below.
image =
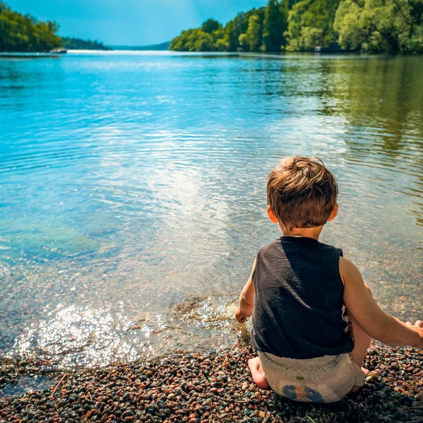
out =
<path fill-rule="evenodd" d="M 257 354 L 273 391 L 294 401 L 336 402 L 364 385 L 365 374 L 348 353 L 304 360 Z"/>

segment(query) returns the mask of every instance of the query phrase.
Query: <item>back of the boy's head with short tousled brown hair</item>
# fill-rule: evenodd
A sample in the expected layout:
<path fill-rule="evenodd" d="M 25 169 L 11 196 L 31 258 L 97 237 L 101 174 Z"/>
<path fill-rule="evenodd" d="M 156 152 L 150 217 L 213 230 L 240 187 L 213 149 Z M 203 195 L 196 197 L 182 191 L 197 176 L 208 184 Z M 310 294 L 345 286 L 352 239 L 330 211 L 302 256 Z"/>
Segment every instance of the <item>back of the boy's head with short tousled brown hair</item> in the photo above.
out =
<path fill-rule="evenodd" d="M 336 180 L 318 158 L 287 157 L 269 173 L 267 204 L 287 231 L 324 225 L 337 196 Z"/>

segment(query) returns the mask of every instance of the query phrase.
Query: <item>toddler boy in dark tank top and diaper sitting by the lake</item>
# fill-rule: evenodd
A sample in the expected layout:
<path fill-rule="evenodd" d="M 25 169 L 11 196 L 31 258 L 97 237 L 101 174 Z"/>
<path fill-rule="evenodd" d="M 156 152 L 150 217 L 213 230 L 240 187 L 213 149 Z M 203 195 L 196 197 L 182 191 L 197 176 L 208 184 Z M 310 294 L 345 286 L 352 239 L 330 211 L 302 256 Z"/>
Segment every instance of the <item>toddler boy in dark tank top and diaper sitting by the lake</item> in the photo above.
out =
<path fill-rule="evenodd" d="M 260 249 L 235 317 L 252 315 L 254 382 L 296 401 L 335 402 L 364 384 L 371 338 L 423 347 L 423 322 L 383 312 L 342 250 L 319 242 L 338 211 L 318 159 L 288 157 L 269 174 L 267 214 L 282 236 Z"/>

